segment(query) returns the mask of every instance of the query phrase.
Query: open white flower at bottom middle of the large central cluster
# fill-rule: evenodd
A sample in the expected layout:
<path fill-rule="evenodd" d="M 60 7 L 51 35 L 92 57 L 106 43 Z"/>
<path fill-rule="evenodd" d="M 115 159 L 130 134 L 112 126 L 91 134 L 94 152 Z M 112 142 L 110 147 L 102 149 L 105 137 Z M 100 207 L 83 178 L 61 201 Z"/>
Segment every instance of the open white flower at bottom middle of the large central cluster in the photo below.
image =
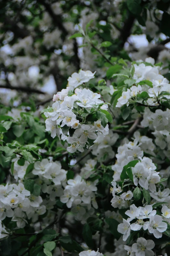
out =
<path fill-rule="evenodd" d="M 94 129 L 89 125 L 81 125 L 81 128 L 76 129 L 74 137 L 79 137 L 80 143 L 86 143 L 87 139 L 95 140 L 97 135 L 94 133 Z"/>

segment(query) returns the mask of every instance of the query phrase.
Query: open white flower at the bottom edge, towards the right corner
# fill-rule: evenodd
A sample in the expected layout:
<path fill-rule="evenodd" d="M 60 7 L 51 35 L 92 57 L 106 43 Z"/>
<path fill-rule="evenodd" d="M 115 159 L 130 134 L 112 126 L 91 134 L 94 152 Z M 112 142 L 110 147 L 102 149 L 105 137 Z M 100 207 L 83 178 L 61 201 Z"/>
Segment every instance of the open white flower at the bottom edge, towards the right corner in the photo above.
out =
<path fill-rule="evenodd" d="M 155 253 L 152 249 L 155 247 L 155 243 L 152 240 L 146 240 L 143 237 L 137 239 L 137 243 L 132 245 L 132 250 L 136 256 L 153 256 Z"/>

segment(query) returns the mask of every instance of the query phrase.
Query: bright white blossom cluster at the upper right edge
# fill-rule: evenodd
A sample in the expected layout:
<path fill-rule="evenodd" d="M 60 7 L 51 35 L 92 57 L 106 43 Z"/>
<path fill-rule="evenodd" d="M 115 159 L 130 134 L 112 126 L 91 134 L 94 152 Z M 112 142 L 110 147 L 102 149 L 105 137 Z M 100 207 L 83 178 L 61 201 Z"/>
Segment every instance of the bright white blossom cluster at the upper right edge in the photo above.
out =
<path fill-rule="evenodd" d="M 122 92 L 118 98 L 117 107 L 120 108 L 124 104 L 139 102 L 146 98 L 145 102 L 148 106 L 158 106 L 160 99 L 169 99 L 170 84 L 169 81 L 159 74 L 160 66 L 154 66 L 154 59 L 147 58 L 145 60 L 150 65 L 137 62 L 134 64 L 133 85 L 127 91 Z"/>

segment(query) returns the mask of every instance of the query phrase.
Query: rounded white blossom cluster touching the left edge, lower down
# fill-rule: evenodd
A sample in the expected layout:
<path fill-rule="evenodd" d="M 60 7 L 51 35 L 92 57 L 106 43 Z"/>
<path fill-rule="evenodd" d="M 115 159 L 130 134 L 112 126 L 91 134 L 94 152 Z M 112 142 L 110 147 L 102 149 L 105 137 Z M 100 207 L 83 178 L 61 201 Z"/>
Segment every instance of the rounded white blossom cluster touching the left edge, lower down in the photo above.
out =
<path fill-rule="evenodd" d="M 22 183 L 0 185 L 0 201 L 0 220 L 12 217 L 18 228 L 25 227 L 27 218 L 34 222 L 46 212 L 46 207 L 41 205 L 42 197 L 31 194 Z"/>

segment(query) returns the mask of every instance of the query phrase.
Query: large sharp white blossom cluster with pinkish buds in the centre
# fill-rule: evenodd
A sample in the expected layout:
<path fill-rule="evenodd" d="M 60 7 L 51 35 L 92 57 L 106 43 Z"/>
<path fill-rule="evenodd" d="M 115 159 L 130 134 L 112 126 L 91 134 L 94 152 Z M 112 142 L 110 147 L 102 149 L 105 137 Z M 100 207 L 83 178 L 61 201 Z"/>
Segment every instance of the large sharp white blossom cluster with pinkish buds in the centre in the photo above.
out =
<path fill-rule="evenodd" d="M 77 150 L 83 152 L 89 140 L 97 139 L 97 134 L 108 134 L 108 105 L 100 99 L 100 94 L 90 89 L 76 88 L 93 77 L 91 71 L 74 73 L 68 78 L 67 89 L 55 94 L 52 108 L 44 112 L 47 117 L 46 131 L 51 132 L 52 138 L 56 134 L 61 135 L 61 139 L 69 144 L 67 151 L 70 153 Z"/>

